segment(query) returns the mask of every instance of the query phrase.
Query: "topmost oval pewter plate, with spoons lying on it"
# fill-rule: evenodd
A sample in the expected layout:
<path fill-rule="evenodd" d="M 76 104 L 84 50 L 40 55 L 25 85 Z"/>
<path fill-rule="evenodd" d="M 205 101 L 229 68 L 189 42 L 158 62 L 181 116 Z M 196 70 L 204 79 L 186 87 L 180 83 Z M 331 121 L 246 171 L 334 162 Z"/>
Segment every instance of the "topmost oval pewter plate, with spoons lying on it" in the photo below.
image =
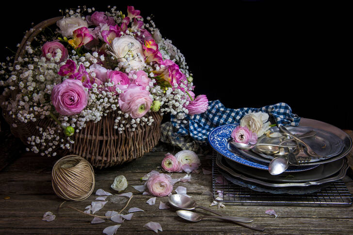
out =
<path fill-rule="evenodd" d="M 317 154 L 319 154 L 320 158 L 317 157 L 310 157 L 309 162 L 319 162 L 321 160 L 328 159 L 330 157 L 334 157 L 339 155 L 345 144 L 343 140 L 341 140 L 337 135 L 321 130 L 318 128 L 313 128 L 313 127 L 307 127 L 307 126 L 288 126 L 287 129 L 299 136 L 302 135 L 308 131 L 314 130 L 316 132 L 315 136 L 308 137 L 308 138 L 303 138 L 302 140 L 305 141 Z M 277 133 L 277 134 L 282 134 L 282 132 L 279 130 L 278 127 L 273 127 L 270 129 L 271 132 Z M 266 135 L 261 136 L 258 140 L 257 143 L 271 143 L 271 144 L 279 144 L 281 141 L 287 139 L 287 136 L 282 135 L 281 137 L 276 137 L 276 138 L 271 138 L 267 137 Z M 295 141 L 288 141 L 285 143 L 286 145 L 295 145 Z M 252 157 L 257 160 L 262 160 L 263 162 L 269 163 L 272 159 L 273 156 L 271 155 L 266 155 L 258 151 L 257 149 L 254 151 L 251 150 L 243 150 L 239 149 L 241 154 L 247 156 L 247 157 Z"/>

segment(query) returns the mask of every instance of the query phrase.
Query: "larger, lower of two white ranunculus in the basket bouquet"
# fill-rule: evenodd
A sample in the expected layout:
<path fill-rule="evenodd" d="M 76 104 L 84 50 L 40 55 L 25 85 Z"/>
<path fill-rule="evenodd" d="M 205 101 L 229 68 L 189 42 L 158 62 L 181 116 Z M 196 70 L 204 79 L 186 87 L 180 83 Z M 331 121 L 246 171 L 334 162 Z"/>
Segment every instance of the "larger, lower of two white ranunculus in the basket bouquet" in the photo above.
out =
<path fill-rule="evenodd" d="M 125 35 L 116 37 L 112 41 L 112 55 L 118 58 L 119 62 L 128 62 L 133 70 L 141 70 L 144 67 L 144 51 L 142 45 L 135 38 Z"/>

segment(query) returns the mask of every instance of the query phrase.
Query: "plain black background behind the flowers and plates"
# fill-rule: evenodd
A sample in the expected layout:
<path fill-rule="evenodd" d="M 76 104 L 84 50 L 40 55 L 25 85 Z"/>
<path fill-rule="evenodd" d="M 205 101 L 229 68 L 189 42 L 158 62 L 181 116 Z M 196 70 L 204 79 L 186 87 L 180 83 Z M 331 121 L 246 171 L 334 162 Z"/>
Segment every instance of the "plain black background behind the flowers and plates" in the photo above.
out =
<path fill-rule="evenodd" d="M 144 18 L 153 14 L 162 36 L 184 54 L 195 94 L 234 109 L 286 102 L 301 117 L 353 129 L 348 6 L 335 1 L 119 2 L 84 4 L 98 11 L 116 5 L 126 15 L 127 5 L 133 5 Z M 82 1 L 13 1 L 2 7 L 0 61 L 11 53 L 4 47 L 16 50 L 32 22 L 78 5 Z"/>

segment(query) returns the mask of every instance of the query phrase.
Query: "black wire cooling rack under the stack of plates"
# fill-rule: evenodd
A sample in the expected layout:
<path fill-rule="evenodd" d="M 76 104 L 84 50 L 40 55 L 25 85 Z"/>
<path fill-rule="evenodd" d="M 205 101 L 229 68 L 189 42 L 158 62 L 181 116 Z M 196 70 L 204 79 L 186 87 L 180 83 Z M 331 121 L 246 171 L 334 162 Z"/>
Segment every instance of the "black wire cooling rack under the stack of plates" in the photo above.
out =
<path fill-rule="evenodd" d="M 272 194 L 238 186 L 224 178 L 216 164 L 216 157 L 217 154 L 213 151 L 212 190 L 215 201 L 241 205 L 350 206 L 353 204 L 353 197 L 341 180 L 331 182 L 317 192 L 303 195 Z M 223 193 L 222 201 L 217 200 L 219 192 Z"/>

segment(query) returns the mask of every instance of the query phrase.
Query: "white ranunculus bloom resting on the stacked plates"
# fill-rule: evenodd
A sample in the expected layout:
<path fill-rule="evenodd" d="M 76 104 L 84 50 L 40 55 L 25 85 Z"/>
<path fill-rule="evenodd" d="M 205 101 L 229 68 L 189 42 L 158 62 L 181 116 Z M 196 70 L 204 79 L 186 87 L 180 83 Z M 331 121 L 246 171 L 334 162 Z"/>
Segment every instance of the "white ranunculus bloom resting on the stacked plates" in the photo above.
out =
<path fill-rule="evenodd" d="M 259 138 L 270 128 L 270 122 L 267 122 L 268 119 L 269 114 L 265 112 L 250 112 L 241 118 L 240 125 L 247 126 Z"/>

